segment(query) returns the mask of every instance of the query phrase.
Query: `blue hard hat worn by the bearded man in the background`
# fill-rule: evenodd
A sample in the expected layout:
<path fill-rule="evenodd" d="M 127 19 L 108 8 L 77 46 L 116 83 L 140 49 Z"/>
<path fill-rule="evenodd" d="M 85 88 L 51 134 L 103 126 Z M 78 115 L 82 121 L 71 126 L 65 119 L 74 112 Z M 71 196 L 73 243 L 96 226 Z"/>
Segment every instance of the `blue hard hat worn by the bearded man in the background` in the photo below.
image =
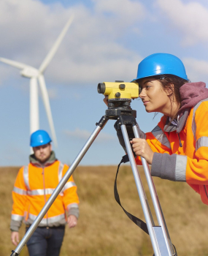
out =
<path fill-rule="evenodd" d="M 31 147 L 42 146 L 50 143 L 51 139 L 47 132 L 43 129 L 38 129 L 36 132 L 31 134 Z"/>

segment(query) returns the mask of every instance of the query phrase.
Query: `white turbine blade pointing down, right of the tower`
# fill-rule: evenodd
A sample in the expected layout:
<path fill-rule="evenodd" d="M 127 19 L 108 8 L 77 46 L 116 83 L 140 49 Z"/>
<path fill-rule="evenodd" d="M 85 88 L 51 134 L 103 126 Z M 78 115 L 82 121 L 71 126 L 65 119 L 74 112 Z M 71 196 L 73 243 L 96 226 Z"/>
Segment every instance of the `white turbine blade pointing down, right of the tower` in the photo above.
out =
<path fill-rule="evenodd" d="M 51 135 L 52 135 L 52 138 L 53 138 L 54 145 L 57 147 L 58 143 L 57 143 L 57 140 L 56 140 L 55 128 L 54 128 L 54 124 L 53 124 L 53 117 L 52 117 L 52 113 L 51 113 L 51 109 L 50 109 L 50 102 L 49 102 L 49 97 L 48 97 L 48 94 L 47 94 L 47 89 L 46 89 L 46 86 L 45 86 L 44 76 L 39 75 L 38 80 L 39 80 L 39 86 L 40 86 L 40 89 L 41 89 L 41 92 L 42 92 L 42 99 L 43 99 L 43 102 L 44 102 L 44 105 L 45 105 L 45 110 L 46 110 L 46 113 L 47 113 L 47 119 L 48 119 L 48 122 L 49 122 Z"/>

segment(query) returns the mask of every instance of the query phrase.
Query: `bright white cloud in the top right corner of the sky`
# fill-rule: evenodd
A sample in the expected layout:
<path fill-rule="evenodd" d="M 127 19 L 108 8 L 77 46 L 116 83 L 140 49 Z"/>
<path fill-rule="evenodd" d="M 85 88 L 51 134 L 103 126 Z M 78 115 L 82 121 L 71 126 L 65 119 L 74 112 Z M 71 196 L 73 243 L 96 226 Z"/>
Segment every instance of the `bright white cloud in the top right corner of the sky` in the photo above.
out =
<path fill-rule="evenodd" d="M 184 4 L 180 0 L 158 0 L 163 15 L 181 32 L 182 45 L 208 42 L 208 10 L 197 1 Z"/>

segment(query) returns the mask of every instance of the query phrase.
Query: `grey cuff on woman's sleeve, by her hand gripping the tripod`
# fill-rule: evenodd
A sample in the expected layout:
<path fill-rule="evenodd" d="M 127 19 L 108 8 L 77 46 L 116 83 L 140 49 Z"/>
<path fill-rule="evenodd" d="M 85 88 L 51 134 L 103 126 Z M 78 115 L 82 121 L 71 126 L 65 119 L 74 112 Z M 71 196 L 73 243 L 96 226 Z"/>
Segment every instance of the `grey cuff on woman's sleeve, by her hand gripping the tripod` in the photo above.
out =
<path fill-rule="evenodd" d="M 169 181 L 176 181 L 176 157 L 176 154 L 169 155 L 155 152 L 153 155 L 151 175 L 168 179 Z"/>

